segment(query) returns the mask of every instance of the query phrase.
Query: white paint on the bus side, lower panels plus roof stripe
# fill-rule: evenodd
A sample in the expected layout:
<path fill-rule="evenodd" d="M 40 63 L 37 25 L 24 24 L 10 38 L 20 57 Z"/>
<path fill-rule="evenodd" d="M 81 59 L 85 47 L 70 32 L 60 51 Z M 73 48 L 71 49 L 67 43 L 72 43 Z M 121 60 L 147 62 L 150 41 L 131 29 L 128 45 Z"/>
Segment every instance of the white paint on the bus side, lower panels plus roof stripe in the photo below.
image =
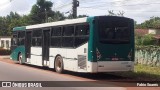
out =
<path fill-rule="evenodd" d="M 71 20 L 64 20 L 58 22 L 51 22 L 51 23 L 43 23 L 37 25 L 30 25 L 26 26 L 27 30 L 36 29 L 36 28 L 45 28 L 45 27 L 52 27 L 52 26 L 60 26 L 60 25 L 69 25 L 69 24 L 76 24 L 76 23 L 85 23 L 87 21 L 87 17 L 79 18 L 79 19 L 71 19 Z M 84 51 L 86 50 L 86 51 Z M 63 65 L 65 70 L 76 71 L 76 72 L 87 72 L 86 69 L 78 68 L 78 55 L 86 56 L 88 58 L 88 43 L 78 47 L 78 48 L 50 48 L 49 49 L 49 61 L 44 61 L 47 63 L 46 66 L 49 68 L 54 68 L 54 62 L 56 56 L 59 54 L 63 57 Z M 86 66 L 89 61 L 86 60 Z M 42 47 L 31 47 L 31 58 L 27 59 L 28 64 L 33 64 L 37 66 L 42 65 Z M 91 67 L 90 65 L 88 67 Z M 91 71 L 91 70 L 89 70 Z"/>

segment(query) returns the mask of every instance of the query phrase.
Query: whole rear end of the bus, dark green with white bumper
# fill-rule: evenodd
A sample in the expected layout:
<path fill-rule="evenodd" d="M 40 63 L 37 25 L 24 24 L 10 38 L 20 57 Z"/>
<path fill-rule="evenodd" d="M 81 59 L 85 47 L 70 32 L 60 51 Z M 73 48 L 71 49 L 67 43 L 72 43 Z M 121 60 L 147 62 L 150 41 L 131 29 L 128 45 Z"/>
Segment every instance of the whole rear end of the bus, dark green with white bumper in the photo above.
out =
<path fill-rule="evenodd" d="M 88 47 L 92 72 L 133 71 L 134 21 L 115 16 L 94 19 L 93 41 L 90 36 Z"/>

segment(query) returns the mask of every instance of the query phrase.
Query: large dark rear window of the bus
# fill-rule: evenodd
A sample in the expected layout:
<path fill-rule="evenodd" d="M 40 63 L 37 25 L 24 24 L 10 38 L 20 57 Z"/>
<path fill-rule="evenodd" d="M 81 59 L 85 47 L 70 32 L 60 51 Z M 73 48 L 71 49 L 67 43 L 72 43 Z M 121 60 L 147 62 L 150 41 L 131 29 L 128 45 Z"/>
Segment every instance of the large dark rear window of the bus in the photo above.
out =
<path fill-rule="evenodd" d="M 98 23 L 99 41 L 103 44 L 128 44 L 130 28 L 127 20 L 100 19 Z"/>

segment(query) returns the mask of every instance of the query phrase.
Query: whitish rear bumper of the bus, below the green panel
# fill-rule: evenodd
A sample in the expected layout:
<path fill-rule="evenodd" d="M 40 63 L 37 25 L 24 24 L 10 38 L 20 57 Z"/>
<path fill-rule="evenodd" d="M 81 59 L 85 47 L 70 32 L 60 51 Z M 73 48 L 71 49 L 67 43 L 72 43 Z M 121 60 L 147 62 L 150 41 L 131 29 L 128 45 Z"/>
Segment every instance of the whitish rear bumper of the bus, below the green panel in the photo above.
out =
<path fill-rule="evenodd" d="M 123 72 L 133 71 L 133 61 L 98 61 L 89 62 L 87 71 L 91 73 L 98 72 Z"/>

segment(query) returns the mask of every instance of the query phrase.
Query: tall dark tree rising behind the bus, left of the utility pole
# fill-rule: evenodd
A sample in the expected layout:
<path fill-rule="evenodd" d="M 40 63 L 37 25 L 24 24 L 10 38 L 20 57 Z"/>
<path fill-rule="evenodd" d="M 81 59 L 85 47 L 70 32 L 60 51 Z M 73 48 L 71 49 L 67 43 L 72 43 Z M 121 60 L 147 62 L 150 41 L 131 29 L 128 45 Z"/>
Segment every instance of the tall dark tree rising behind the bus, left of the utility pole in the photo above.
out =
<path fill-rule="evenodd" d="M 52 17 L 53 3 L 46 0 L 37 0 L 37 3 L 32 6 L 30 17 L 33 24 L 48 22 L 48 17 Z"/>

